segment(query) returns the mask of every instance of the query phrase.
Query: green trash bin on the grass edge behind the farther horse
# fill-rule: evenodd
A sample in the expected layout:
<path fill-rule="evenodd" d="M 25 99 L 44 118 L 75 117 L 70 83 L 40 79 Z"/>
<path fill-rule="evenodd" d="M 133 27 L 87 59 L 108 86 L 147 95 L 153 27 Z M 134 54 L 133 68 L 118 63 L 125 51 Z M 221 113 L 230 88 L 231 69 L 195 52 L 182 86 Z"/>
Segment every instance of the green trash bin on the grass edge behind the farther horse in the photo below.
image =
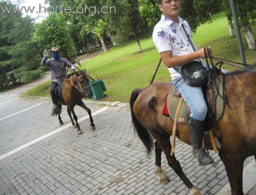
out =
<path fill-rule="evenodd" d="M 92 100 L 99 100 L 103 97 L 106 97 L 106 94 L 103 94 L 103 91 L 106 91 L 106 86 L 102 79 L 97 79 L 89 83 L 91 90 L 93 92 Z"/>

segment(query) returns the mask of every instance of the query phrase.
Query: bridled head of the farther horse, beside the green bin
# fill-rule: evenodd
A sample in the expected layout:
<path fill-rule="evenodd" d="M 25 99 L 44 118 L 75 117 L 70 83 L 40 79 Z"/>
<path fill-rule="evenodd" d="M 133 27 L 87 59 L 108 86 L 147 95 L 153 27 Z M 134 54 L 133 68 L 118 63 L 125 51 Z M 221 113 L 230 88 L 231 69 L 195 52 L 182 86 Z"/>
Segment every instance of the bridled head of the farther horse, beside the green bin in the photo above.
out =
<path fill-rule="evenodd" d="M 89 85 L 89 79 L 86 76 L 86 70 L 82 70 L 80 72 L 74 71 L 74 73 L 77 76 L 77 85 L 79 86 L 81 93 L 86 98 L 92 98 L 93 92 L 91 90 L 91 87 Z"/>

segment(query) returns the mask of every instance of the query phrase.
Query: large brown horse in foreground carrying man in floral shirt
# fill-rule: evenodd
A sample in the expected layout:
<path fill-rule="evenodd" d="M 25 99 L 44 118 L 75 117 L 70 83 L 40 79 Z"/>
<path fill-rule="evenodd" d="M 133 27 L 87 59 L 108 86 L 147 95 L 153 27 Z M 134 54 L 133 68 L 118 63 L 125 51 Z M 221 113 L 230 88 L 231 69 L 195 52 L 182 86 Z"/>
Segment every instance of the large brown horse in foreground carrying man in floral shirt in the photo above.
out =
<path fill-rule="evenodd" d="M 256 70 L 254 66 L 252 68 Z M 243 164 L 244 160 L 254 155 L 256 157 L 256 80 L 255 73 L 241 71 L 228 73 L 224 77 L 230 109 L 225 106 L 224 114 L 213 128 L 221 143 L 219 156 L 223 161 L 232 194 L 243 194 Z M 138 137 L 147 148 L 148 154 L 154 148 L 155 142 L 156 167 L 161 183 L 170 180 L 161 167 L 161 153 L 164 152 L 168 165 L 188 187 L 191 194 L 200 194 L 185 176 L 179 161 L 174 154 L 171 156 L 170 135 L 173 121 L 162 115 L 165 98 L 170 91 L 170 83 L 154 83 L 144 89 L 135 89 L 131 94 L 130 108 L 132 123 Z M 189 145 L 188 125 L 178 124 L 179 139 Z M 153 138 L 152 138 L 153 137 Z M 213 149 L 209 137 L 204 137 L 206 149 Z"/>

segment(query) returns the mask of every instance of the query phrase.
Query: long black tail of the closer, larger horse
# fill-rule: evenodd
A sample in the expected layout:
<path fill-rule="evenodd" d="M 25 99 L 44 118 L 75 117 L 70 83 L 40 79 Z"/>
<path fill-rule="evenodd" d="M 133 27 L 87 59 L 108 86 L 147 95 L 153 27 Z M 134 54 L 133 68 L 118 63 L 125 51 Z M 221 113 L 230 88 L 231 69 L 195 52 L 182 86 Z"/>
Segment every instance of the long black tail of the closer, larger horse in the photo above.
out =
<path fill-rule="evenodd" d="M 154 140 L 153 140 L 151 134 L 149 133 L 149 131 L 147 129 L 145 129 L 140 124 L 140 122 L 138 121 L 138 119 L 136 118 L 136 116 L 133 112 L 133 105 L 134 105 L 139 93 L 142 90 L 143 89 L 141 89 L 141 88 L 137 88 L 132 92 L 131 99 L 130 99 L 130 109 L 131 109 L 132 124 L 133 124 L 133 127 L 134 127 L 134 132 L 136 130 L 136 132 L 138 134 L 138 137 L 140 138 L 140 140 L 145 145 L 145 147 L 147 149 L 147 156 L 148 156 L 151 153 L 151 151 L 154 149 Z"/>

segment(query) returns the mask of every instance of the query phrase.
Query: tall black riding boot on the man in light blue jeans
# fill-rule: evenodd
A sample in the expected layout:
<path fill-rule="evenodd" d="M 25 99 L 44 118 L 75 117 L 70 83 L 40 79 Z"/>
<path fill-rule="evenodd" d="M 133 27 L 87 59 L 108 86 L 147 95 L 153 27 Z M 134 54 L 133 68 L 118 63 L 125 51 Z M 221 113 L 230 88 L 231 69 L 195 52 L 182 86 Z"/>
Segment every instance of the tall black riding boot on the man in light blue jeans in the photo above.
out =
<path fill-rule="evenodd" d="M 204 149 L 201 149 L 203 141 L 204 121 L 199 121 L 188 117 L 190 143 L 193 146 L 193 155 L 199 162 L 199 165 L 207 165 L 214 163 L 213 159 Z M 200 155 L 200 158 L 199 158 Z"/>

